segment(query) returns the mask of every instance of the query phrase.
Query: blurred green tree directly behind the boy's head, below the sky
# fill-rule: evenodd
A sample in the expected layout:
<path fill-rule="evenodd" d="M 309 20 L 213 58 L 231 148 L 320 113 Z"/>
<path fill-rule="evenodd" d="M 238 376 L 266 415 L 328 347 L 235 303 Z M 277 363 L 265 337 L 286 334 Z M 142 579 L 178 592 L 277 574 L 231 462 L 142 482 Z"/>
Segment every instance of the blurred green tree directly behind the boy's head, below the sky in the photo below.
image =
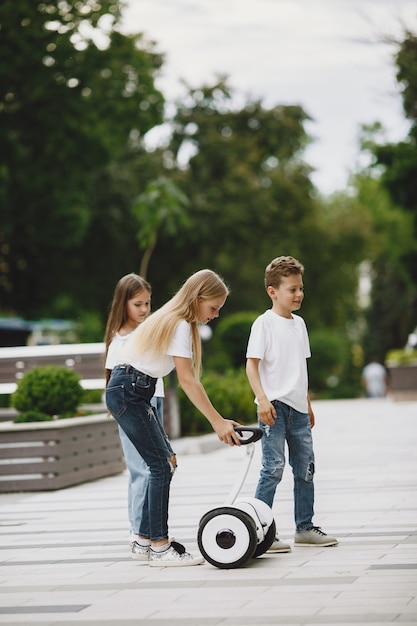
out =
<path fill-rule="evenodd" d="M 224 315 L 263 311 L 265 266 L 282 254 L 306 267 L 309 324 L 344 327 L 356 307 L 362 235 L 358 216 L 330 209 L 317 197 L 303 161 L 310 138 L 299 106 L 236 106 L 225 79 L 188 92 L 176 103 L 167 151 L 171 172 L 190 201 L 190 228 L 161 238 L 150 268 L 154 293 L 172 292 L 212 267 L 231 287 Z M 175 258 L 167 266 L 166 258 Z M 325 303 L 325 304 L 324 304 Z"/>

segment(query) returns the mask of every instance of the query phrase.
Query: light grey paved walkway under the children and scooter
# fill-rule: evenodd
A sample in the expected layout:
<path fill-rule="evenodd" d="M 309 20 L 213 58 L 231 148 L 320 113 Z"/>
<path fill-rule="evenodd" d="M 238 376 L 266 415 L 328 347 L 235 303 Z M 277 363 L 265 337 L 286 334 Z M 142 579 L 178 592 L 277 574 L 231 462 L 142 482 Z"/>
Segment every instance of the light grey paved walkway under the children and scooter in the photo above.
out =
<path fill-rule="evenodd" d="M 0 623 L 415 626 L 417 402 L 320 401 L 314 408 L 314 521 L 338 537 L 337 547 L 293 548 L 231 570 L 149 568 L 129 556 L 126 474 L 57 492 L 3 494 Z M 201 441 L 200 453 L 197 442 L 191 449 L 176 442 L 171 490 L 170 532 L 192 551 L 201 515 L 223 504 L 244 450 L 218 447 L 212 436 Z M 253 495 L 259 462 L 256 444 L 244 495 Z M 274 513 L 292 543 L 291 490 L 287 468 Z"/>

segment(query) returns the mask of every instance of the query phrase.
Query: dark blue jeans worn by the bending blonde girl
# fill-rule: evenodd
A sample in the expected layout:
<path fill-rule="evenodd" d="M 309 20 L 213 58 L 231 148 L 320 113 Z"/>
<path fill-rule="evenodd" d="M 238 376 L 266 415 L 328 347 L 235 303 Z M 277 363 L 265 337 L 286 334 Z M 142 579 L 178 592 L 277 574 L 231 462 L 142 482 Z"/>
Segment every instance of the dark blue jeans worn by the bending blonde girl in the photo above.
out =
<path fill-rule="evenodd" d="M 156 378 L 131 365 L 117 365 L 106 387 L 106 404 L 119 426 L 149 466 L 149 483 L 139 534 L 152 541 L 168 539 L 169 489 L 175 466 L 164 429 L 150 404 Z"/>

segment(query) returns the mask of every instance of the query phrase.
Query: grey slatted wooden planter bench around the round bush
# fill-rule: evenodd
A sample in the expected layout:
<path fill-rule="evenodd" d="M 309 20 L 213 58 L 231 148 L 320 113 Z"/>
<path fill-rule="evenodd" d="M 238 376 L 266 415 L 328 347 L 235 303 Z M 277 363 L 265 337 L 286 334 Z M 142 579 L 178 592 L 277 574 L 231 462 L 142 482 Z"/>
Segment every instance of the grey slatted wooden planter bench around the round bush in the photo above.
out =
<path fill-rule="evenodd" d="M 0 348 L 0 393 L 44 365 L 77 372 L 84 389 L 104 391 L 104 343 Z M 62 489 L 123 472 L 117 423 L 104 413 L 51 422 L 0 421 L 0 493 Z"/>

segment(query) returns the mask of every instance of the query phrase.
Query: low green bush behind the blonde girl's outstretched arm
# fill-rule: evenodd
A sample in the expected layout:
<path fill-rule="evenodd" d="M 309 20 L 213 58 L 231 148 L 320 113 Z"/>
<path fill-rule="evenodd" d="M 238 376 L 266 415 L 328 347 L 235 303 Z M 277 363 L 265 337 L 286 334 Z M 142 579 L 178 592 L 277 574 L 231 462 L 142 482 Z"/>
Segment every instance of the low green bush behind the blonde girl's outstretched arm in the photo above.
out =
<path fill-rule="evenodd" d="M 206 373 L 202 376 L 201 382 L 211 402 L 223 417 L 236 420 L 241 424 L 256 422 L 254 395 L 244 368 L 228 370 L 223 374 Z M 183 435 L 213 432 L 210 422 L 196 409 L 181 389 L 178 391 L 178 401 Z"/>

